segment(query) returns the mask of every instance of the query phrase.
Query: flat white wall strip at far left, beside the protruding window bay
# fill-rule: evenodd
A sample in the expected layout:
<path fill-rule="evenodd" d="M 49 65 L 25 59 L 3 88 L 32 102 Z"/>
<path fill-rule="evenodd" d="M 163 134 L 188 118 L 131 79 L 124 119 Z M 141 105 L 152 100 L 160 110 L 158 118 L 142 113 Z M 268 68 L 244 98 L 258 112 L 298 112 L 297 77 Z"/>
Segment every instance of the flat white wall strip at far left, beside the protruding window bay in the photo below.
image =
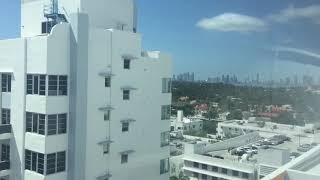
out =
<path fill-rule="evenodd" d="M 24 108 L 25 108 L 25 72 L 26 48 L 24 39 L 0 41 L 0 71 L 12 72 L 11 82 L 11 125 L 10 161 L 12 179 L 22 179 L 24 171 Z"/>

